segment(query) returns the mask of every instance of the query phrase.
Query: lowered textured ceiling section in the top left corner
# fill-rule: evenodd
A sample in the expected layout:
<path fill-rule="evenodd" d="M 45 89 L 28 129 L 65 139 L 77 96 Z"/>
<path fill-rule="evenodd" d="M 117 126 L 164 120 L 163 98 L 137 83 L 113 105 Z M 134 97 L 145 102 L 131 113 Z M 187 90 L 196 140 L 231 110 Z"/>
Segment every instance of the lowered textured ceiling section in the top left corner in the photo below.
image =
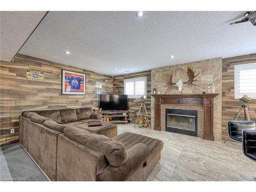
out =
<path fill-rule="evenodd" d="M 11 61 L 46 11 L 0 12 L 0 60 Z"/>

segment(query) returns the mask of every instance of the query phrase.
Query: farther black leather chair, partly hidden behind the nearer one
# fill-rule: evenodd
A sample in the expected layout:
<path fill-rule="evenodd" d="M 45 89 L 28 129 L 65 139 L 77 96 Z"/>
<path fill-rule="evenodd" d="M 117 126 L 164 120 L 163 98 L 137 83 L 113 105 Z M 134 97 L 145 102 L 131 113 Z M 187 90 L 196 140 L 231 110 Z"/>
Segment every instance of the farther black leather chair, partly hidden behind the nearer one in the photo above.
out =
<path fill-rule="evenodd" d="M 229 138 L 242 142 L 243 130 L 255 130 L 254 121 L 248 120 L 230 120 L 228 121 L 228 136 Z M 227 139 L 226 139 L 227 140 Z M 225 142 L 226 142 L 225 140 Z"/>

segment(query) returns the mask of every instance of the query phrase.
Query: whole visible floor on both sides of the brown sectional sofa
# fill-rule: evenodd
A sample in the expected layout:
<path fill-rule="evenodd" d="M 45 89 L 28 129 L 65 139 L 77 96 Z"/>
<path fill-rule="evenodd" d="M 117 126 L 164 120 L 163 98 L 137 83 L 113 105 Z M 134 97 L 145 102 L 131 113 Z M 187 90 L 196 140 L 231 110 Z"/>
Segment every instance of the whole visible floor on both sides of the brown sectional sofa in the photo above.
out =
<path fill-rule="evenodd" d="M 253 181 L 256 162 L 242 154 L 237 142 L 207 141 L 193 136 L 118 125 L 118 134 L 134 132 L 164 142 L 162 157 L 147 181 Z M 19 144 L 2 147 L 0 177 L 46 181 Z"/>

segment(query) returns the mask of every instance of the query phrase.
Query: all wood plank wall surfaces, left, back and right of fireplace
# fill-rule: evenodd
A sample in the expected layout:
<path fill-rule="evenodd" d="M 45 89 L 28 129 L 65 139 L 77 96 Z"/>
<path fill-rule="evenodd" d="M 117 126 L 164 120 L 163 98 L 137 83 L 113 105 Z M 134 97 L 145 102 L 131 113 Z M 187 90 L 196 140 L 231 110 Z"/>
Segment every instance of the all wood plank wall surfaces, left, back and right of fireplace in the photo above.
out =
<path fill-rule="evenodd" d="M 222 139 L 227 136 L 227 120 L 234 119 L 241 106 L 234 99 L 234 65 L 256 62 L 256 53 L 224 58 L 222 63 Z M 43 82 L 27 81 L 26 70 L 34 69 L 45 74 Z M 87 74 L 87 95 L 61 95 L 61 69 Z M 90 106 L 97 109 L 97 91 L 101 93 L 123 94 L 123 80 L 147 77 L 146 108 L 151 117 L 151 71 L 126 74 L 112 78 L 108 75 L 74 68 L 17 54 L 12 62 L 0 62 L 0 145 L 18 142 L 18 117 L 25 110 L 63 109 Z M 95 81 L 102 82 L 102 89 L 95 88 Z M 129 121 L 135 122 L 139 99 L 129 99 Z M 256 99 L 249 103 L 250 117 L 256 122 Z M 242 116 L 241 116 L 242 117 Z M 15 132 L 10 134 L 10 129 Z"/>

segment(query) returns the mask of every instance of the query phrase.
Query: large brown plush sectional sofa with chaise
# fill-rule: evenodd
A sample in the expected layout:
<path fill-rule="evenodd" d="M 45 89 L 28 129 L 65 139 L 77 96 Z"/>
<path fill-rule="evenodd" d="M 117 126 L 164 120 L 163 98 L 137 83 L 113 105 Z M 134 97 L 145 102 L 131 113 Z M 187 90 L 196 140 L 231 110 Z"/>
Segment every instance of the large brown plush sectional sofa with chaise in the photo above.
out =
<path fill-rule="evenodd" d="M 163 142 L 127 132 L 117 136 L 112 123 L 87 126 L 101 117 L 91 108 L 23 112 L 20 143 L 52 181 L 145 181 Z"/>

